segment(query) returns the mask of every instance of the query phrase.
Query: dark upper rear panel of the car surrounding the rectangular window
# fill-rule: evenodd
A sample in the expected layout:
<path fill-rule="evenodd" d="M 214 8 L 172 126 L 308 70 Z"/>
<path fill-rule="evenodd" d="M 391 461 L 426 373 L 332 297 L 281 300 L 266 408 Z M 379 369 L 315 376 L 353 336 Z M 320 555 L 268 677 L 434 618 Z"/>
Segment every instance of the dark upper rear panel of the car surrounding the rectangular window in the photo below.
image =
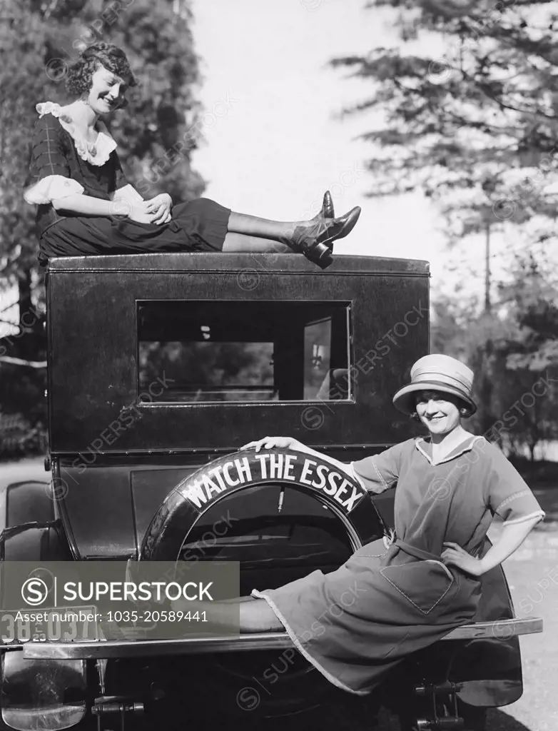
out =
<path fill-rule="evenodd" d="M 208 266 L 208 257 L 200 256 L 199 267 Z M 221 264 L 218 255 L 211 256 L 215 266 Z M 95 258 L 99 262 L 88 262 L 86 270 L 79 262 L 67 260 L 53 260 L 49 268 L 48 393 L 53 455 L 73 454 L 76 464 L 87 464 L 98 452 L 205 451 L 215 445 L 234 450 L 270 429 L 324 445 L 389 444 L 408 436 L 408 419 L 391 408 L 391 391 L 394 374 L 400 382 L 408 373 L 409 354 L 422 355 L 428 350 L 424 262 L 411 266 L 405 260 L 339 257 L 337 270 L 324 276 L 301 268 L 297 257 L 280 257 L 289 260 L 287 267 L 267 265 L 259 287 L 245 291 L 238 282 L 243 270 L 240 261 L 253 266 L 251 257 L 229 257 L 232 261 L 227 260 L 223 270 L 184 270 L 178 266 L 178 257 L 177 268 L 171 271 L 153 270 L 157 257 L 150 262 L 151 255 L 133 257 L 148 260 L 140 262 L 145 268 L 137 270 L 119 269 L 122 257 L 90 257 Z M 307 402 L 141 403 L 137 303 L 162 300 L 243 301 L 254 307 L 259 302 L 347 303 L 351 308 L 351 365 L 358 368 L 353 379 L 355 400 L 337 402 L 335 410 L 321 406 L 322 423 L 314 430 L 303 424 Z M 405 317 L 413 324 L 406 324 Z M 397 325 L 399 335 L 393 332 Z M 376 360 L 371 363 L 374 353 Z M 382 420 L 371 420 L 370 414 L 378 411 Z"/>

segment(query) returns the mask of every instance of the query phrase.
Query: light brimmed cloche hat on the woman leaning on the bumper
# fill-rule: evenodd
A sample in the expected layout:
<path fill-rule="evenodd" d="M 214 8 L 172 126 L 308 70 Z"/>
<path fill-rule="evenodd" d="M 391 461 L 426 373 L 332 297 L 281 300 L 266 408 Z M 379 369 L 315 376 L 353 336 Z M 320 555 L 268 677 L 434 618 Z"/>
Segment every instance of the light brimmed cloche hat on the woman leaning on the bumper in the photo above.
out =
<path fill-rule="evenodd" d="M 442 391 L 459 396 L 469 406 L 471 414 L 477 410 L 477 405 L 471 398 L 473 390 L 473 371 L 465 363 L 449 355 L 425 355 L 419 358 L 410 369 L 410 384 L 403 386 L 394 395 L 393 402 L 396 409 L 404 414 L 412 414 L 416 401 L 414 394 L 417 391 Z"/>

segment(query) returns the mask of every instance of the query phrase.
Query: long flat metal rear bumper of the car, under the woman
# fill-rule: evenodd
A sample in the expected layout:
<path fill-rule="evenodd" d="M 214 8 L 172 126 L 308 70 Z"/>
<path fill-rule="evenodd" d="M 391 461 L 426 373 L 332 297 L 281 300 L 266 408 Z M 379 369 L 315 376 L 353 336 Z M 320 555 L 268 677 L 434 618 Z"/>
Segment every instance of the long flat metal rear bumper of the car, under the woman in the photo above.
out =
<path fill-rule="evenodd" d="M 542 619 L 505 619 L 498 622 L 465 624 L 449 632 L 442 638 L 442 641 L 509 640 L 511 637 L 533 635 L 542 631 Z M 50 660 L 156 657 L 275 650 L 293 646 L 292 640 L 286 632 L 255 632 L 251 635 L 238 635 L 237 637 L 188 637 L 180 640 L 28 643 L 23 645 L 23 657 Z M 15 650 L 16 648 L 7 649 Z"/>

